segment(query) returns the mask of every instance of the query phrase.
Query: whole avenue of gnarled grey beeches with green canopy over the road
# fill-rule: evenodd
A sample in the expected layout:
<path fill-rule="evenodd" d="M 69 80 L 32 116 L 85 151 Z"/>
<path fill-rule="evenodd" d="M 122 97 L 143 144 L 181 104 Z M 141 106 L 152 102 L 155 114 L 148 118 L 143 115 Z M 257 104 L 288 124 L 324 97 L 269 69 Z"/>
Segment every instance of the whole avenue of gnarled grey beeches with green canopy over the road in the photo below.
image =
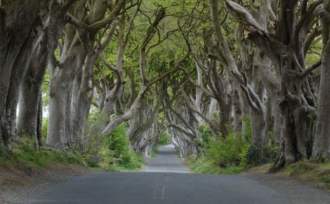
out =
<path fill-rule="evenodd" d="M 274 171 L 325 161 L 329 4 L 0 1 L 0 150 L 27 136 L 36 150 L 84 154 L 93 118 L 102 119 L 98 142 L 125 127 L 144 155 L 166 133 L 181 156 L 235 140 L 248 147 L 247 166 L 277 148 Z"/>

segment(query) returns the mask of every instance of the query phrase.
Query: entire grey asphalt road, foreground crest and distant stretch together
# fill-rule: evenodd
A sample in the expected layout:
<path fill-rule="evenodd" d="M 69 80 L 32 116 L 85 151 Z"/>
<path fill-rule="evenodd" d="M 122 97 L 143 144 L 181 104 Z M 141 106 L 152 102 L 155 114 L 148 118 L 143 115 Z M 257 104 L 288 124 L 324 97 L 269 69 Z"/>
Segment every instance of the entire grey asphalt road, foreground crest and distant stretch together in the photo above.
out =
<path fill-rule="evenodd" d="M 42 192 L 33 203 L 291 203 L 246 177 L 189 174 L 173 146 L 161 147 L 147 163 L 145 172 L 74 177 Z"/>

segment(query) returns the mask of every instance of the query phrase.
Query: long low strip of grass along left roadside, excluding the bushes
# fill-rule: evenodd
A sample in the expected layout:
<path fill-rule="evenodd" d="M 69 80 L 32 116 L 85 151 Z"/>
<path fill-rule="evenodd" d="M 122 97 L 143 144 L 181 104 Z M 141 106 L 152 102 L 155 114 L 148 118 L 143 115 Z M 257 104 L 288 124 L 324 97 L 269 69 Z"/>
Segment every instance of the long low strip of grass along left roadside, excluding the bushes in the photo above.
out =
<path fill-rule="evenodd" d="M 128 162 L 118 162 L 110 164 L 109 168 L 102 168 L 98 166 L 88 166 L 82 156 L 73 151 L 69 150 L 66 152 L 57 150 L 34 150 L 33 140 L 29 137 L 21 137 L 20 142 L 12 142 L 13 150 L 5 151 L 0 154 L 0 166 L 7 168 L 20 168 L 25 166 L 29 170 L 38 170 L 47 167 L 47 164 L 76 164 L 85 166 L 91 170 L 107 170 L 110 172 L 121 172 L 121 171 L 135 171 L 142 168 L 145 164 L 141 153 L 130 152 L 131 159 Z"/>

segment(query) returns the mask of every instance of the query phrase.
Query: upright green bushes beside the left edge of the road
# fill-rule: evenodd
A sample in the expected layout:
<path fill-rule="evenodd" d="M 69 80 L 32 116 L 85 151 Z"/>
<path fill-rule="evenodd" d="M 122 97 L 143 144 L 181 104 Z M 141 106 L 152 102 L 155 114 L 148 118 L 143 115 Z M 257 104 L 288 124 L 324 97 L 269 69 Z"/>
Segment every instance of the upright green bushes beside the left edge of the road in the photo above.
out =
<path fill-rule="evenodd" d="M 105 115 L 94 114 L 86 121 L 81 157 L 89 166 L 101 166 L 109 171 L 140 169 L 144 160 L 141 154 L 131 149 L 125 123 L 121 123 L 110 135 L 104 135 L 106 119 Z"/>

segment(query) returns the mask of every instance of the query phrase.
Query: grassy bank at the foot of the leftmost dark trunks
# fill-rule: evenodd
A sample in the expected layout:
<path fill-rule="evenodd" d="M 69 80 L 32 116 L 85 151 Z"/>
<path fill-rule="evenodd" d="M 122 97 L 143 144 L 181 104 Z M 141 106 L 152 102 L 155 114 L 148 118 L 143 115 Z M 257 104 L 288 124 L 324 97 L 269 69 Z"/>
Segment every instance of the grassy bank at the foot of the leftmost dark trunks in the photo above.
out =
<path fill-rule="evenodd" d="M 21 142 L 12 143 L 13 151 L 0 156 L 0 166 L 14 167 L 23 165 L 30 170 L 45 168 L 49 163 L 85 165 L 83 160 L 72 151 L 56 150 L 35 151 L 32 140 L 21 138 Z"/>

